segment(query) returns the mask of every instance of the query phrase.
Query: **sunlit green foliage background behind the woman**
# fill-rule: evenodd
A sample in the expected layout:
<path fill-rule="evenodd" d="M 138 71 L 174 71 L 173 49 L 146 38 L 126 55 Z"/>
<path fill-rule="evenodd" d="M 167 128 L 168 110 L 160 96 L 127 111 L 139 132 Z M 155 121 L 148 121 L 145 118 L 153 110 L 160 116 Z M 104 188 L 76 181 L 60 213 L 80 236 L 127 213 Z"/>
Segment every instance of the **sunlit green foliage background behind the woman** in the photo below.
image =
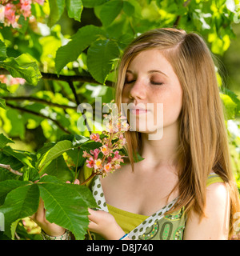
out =
<path fill-rule="evenodd" d="M 14 140 L 13 149 L 38 154 L 45 143 L 64 134 L 88 136 L 87 130 L 78 129 L 78 104 L 94 106 L 95 97 L 110 102 L 114 69 L 127 44 L 146 30 L 175 26 L 201 34 L 218 60 L 240 190 L 239 0 L 46 0 L 43 6 L 32 4 L 31 12 L 30 18 L 20 19 L 21 28 L 0 23 L 7 57 L 26 54 L 42 74 L 34 85 L 12 83 L 10 76 L 6 86 L 0 84 L 0 133 Z M 14 75 L 1 63 L 0 68 L 0 74 Z"/>

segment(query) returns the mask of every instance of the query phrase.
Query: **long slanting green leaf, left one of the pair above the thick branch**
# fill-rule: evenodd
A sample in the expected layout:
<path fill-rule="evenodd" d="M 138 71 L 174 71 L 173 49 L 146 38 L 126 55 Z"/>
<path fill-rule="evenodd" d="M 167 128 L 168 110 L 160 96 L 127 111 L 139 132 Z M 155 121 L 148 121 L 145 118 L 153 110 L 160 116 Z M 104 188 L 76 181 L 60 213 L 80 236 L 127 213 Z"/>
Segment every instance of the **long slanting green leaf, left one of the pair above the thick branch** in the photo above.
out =
<path fill-rule="evenodd" d="M 90 46 L 100 34 L 102 34 L 102 30 L 97 26 L 83 26 L 74 34 L 72 40 L 68 42 L 66 46 L 58 48 L 55 58 L 57 73 L 59 74 L 67 63 L 74 62 L 78 56 L 82 54 L 82 50 Z"/>

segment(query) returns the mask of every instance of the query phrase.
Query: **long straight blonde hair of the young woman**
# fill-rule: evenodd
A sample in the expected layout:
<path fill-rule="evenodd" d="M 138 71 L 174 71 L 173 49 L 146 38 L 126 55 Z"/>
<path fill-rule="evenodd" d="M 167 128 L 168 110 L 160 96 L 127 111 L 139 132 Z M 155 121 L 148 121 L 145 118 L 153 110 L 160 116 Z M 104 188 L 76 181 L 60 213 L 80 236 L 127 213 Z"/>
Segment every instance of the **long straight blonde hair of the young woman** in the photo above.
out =
<path fill-rule="evenodd" d="M 182 86 L 182 112 L 179 116 L 178 202 L 169 211 L 183 206 L 204 216 L 206 180 L 214 171 L 230 191 L 230 234 L 239 194 L 230 166 L 224 110 L 219 97 L 215 66 L 204 40 L 184 30 L 156 29 L 141 34 L 126 48 L 118 66 L 116 102 L 120 109 L 122 88 L 130 61 L 143 50 L 157 48 L 170 62 Z M 134 170 L 134 158 L 141 139 L 138 132 L 127 132 L 127 151 Z"/>

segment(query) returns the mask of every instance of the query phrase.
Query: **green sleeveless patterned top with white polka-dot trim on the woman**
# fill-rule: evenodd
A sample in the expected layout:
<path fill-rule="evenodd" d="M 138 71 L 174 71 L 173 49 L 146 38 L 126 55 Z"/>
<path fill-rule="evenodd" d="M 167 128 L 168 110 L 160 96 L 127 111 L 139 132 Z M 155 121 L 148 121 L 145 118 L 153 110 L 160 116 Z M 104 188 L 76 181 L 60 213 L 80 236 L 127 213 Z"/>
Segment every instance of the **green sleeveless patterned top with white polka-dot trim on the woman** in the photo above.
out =
<path fill-rule="evenodd" d="M 84 178 L 88 178 L 91 170 L 84 167 Z M 215 182 L 223 182 L 218 174 L 211 173 L 207 179 L 207 186 Z M 165 214 L 167 210 L 177 201 L 175 198 L 162 209 L 158 210 L 151 216 L 142 214 L 133 214 L 126 210 L 118 209 L 106 203 L 102 185 L 99 176 L 96 176 L 92 182 L 88 182 L 94 198 L 100 207 L 112 214 L 126 234 L 129 234 L 131 240 L 182 240 L 183 232 L 186 225 L 186 214 L 184 207 L 172 214 Z M 90 233 L 93 240 L 102 240 L 103 238 L 94 233 Z M 86 238 L 88 239 L 88 238 Z"/>

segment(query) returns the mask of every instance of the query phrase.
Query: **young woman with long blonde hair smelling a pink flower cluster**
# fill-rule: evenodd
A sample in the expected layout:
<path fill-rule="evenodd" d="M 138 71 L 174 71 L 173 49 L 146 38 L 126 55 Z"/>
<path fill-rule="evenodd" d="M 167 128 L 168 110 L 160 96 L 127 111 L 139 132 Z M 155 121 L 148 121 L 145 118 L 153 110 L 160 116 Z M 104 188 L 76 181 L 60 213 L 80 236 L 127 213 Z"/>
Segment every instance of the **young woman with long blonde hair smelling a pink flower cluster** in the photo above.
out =
<path fill-rule="evenodd" d="M 176 29 L 140 35 L 122 56 L 116 102 L 119 109 L 132 103 L 128 118 L 135 118 L 136 131 L 126 132 L 130 161 L 89 184 L 101 207 L 89 210 L 92 237 L 230 238 L 239 195 L 214 62 L 202 38 Z M 147 119 L 154 126 L 144 130 Z M 158 131 L 162 138 L 150 139 Z M 134 162 L 137 152 L 141 162 Z M 90 176 L 87 168 L 83 174 Z M 44 223 L 46 234 L 65 232 Z"/>

